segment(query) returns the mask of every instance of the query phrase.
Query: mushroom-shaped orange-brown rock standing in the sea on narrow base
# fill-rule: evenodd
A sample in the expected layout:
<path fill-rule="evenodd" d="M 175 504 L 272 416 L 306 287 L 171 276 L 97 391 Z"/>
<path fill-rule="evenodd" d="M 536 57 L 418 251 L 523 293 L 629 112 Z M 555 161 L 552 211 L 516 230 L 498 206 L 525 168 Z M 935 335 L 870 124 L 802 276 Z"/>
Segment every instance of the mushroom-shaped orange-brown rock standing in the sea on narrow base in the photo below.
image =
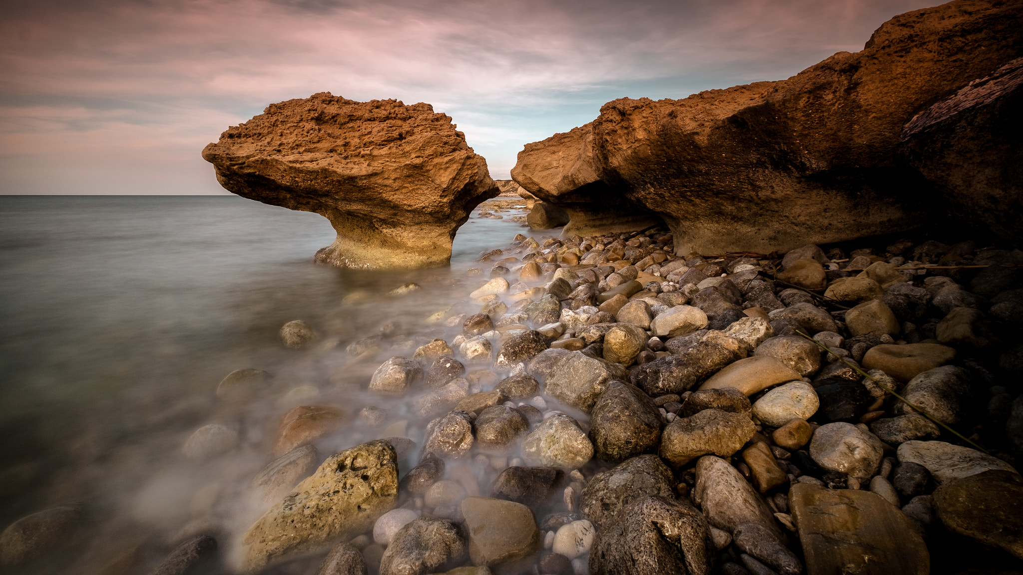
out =
<path fill-rule="evenodd" d="M 451 118 L 422 102 L 320 92 L 270 104 L 203 158 L 238 195 L 330 220 L 338 238 L 316 261 L 341 267 L 444 265 L 458 226 L 498 193 Z"/>

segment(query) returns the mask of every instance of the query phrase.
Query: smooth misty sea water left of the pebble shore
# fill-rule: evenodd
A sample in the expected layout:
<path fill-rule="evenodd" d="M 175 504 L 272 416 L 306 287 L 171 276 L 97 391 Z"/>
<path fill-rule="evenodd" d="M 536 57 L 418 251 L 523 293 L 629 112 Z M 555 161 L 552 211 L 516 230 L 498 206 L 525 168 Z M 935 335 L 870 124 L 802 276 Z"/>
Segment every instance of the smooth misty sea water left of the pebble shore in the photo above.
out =
<path fill-rule="evenodd" d="M 316 442 L 320 459 L 379 437 L 357 417 L 369 404 L 388 423 L 413 419 L 421 446 L 410 398 L 371 397 L 366 384 L 388 357 L 450 342 L 455 328 L 426 318 L 466 305 L 464 286 L 481 281 L 464 270 L 525 230 L 503 215 L 474 213 L 450 268 L 367 272 L 312 263 L 333 238 L 324 218 L 241 197 L 0 197 L 0 524 L 69 502 L 87 517 L 74 555 L 25 572 L 94 572 L 127 554 L 144 573 L 203 529 L 226 539 L 229 566 L 232 541 L 269 506 L 251 500 L 249 482 L 298 405 L 346 412 Z M 385 295 L 408 281 L 422 289 Z M 310 348 L 281 345 L 293 319 L 315 329 Z M 346 347 L 382 328 L 380 351 L 353 361 Z M 269 386 L 226 406 L 217 385 L 246 367 L 269 371 Z M 186 439 L 211 423 L 236 429 L 238 447 L 185 457 Z"/>

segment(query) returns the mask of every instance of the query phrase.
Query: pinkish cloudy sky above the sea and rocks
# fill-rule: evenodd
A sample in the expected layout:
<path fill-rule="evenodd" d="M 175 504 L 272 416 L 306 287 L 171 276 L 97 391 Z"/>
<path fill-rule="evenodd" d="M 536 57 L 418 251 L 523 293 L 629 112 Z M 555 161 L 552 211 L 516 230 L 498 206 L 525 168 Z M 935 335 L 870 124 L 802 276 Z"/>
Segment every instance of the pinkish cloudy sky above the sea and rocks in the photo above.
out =
<path fill-rule="evenodd" d="M 0 194 L 221 194 L 271 102 L 425 101 L 491 176 L 619 97 L 781 80 L 936 0 L 33 0 L 0 21 Z"/>

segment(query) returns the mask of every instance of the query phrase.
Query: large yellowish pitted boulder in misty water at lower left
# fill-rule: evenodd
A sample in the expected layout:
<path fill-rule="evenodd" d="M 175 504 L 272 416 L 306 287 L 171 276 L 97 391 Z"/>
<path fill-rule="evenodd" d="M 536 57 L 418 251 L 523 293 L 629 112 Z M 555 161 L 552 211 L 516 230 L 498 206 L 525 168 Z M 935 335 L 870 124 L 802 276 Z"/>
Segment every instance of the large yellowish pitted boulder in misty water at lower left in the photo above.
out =
<path fill-rule="evenodd" d="M 241 538 L 241 570 L 255 573 L 290 555 L 351 539 L 398 501 L 398 455 L 370 441 L 326 458 Z"/>

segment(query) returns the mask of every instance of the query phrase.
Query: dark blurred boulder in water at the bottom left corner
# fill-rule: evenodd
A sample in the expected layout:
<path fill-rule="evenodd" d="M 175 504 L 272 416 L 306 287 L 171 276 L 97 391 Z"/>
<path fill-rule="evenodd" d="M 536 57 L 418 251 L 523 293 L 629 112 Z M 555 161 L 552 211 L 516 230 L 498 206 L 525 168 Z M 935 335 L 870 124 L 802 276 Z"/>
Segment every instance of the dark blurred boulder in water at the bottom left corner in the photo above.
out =
<path fill-rule="evenodd" d="M 59 505 L 23 517 L 0 532 L 0 565 L 15 567 L 72 541 L 85 519 L 81 506 Z"/>

